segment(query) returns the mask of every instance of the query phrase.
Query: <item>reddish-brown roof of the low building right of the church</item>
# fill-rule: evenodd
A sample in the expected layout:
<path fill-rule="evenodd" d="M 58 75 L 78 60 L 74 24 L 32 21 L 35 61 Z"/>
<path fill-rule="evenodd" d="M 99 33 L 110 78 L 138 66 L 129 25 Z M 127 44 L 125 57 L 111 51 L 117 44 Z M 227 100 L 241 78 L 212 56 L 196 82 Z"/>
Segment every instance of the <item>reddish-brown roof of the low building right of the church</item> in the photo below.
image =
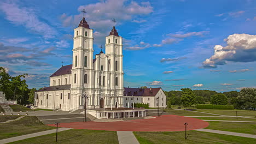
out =
<path fill-rule="evenodd" d="M 160 91 L 159 88 L 127 88 L 124 87 L 124 96 L 143 96 L 148 97 L 152 96 L 155 97 L 155 95 Z"/>

